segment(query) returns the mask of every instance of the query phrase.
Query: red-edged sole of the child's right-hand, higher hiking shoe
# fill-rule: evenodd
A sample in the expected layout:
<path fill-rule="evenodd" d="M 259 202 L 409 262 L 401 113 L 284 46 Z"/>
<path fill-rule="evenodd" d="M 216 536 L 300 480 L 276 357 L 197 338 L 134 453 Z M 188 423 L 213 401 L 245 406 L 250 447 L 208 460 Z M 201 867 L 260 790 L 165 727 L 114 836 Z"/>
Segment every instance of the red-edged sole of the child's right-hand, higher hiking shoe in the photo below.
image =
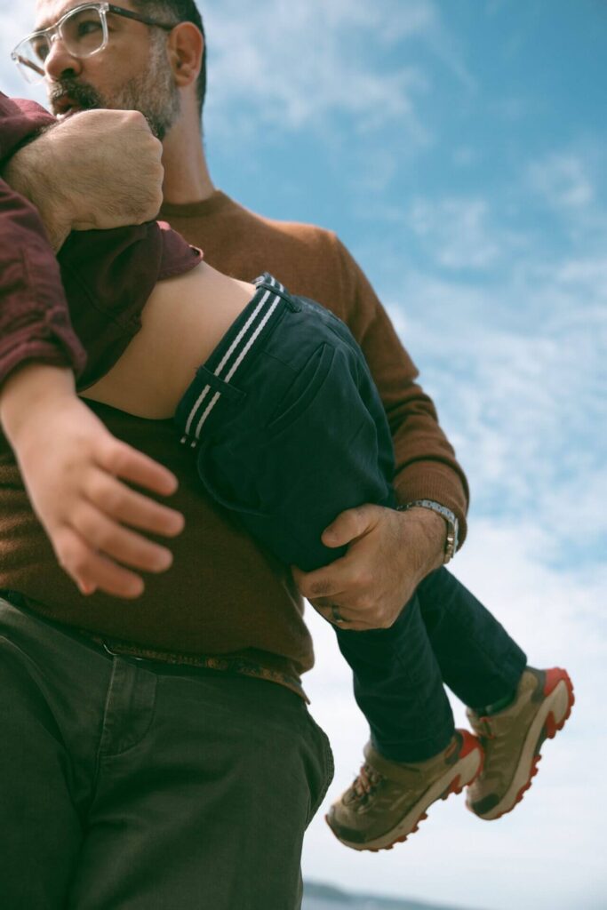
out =
<path fill-rule="evenodd" d="M 566 670 L 555 667 L 546 671 L 543 691 L 546 700 L 541 704 L 540 711 L 536 714 L 533 723 L 531 723 L 523 743 L 521 759 L 512 778 L 512 783 L 503 799 L 494 805 L 489 812 L 483 814 L 474 812 L 473 807 L 467 804 L 470 812 L 474 813 L 477 818 L 493 822 L 501 818 L 502 815 L 507 815 L 521 802 L 524 794 L 531 787 L 533 778 L 538 773 L 542 744 L 547 739 L 554 739 L 572 713 L 575 696 L 573 694 L 572 681 Z"/>

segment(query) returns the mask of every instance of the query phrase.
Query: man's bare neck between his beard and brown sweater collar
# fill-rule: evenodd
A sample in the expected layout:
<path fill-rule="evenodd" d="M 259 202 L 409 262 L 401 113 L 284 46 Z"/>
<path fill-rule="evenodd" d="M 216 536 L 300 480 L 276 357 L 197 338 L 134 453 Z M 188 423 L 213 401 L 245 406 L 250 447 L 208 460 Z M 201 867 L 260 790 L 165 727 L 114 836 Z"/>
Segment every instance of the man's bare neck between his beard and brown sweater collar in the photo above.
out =
<path fill-rule="evenodd" d="M 215 191 L 197 122 L 180 118 L 163 143 L 165 202 L 184 205 L 202 202 Z"/>

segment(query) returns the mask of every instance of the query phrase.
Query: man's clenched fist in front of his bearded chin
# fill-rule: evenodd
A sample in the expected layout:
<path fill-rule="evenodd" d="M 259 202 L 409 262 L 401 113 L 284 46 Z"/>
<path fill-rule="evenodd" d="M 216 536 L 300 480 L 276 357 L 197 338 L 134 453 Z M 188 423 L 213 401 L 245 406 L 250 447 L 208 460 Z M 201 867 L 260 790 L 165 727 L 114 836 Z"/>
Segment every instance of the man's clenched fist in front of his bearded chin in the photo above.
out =
<path fill-rule="evenodd" d="M 137 111 L 82 111 L 17 152 L 3 176 L 39 210 L 58 249 L 71 230 L 157 217 L 161 157 L 162 145 Z"/>

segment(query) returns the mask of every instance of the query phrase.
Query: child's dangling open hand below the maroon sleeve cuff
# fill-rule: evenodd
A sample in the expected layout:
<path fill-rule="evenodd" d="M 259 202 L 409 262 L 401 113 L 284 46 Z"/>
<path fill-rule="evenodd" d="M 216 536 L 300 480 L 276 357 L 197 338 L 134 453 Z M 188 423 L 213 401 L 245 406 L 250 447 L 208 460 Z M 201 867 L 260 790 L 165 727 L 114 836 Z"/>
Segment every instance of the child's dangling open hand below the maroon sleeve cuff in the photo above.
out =
<path fill-rule="evenodd" d="M 168 496 L 177 489 L 175 476 L 116 440 L 76 398 L 68 369 L 15 370 L 2 390 L 0 418 L 32 507 L 80 591 L 138 597 L 144 582 L 123 566 L 165 571 L 172 554 L 126 525 L 174 537 L 184 521 L 118 478 Z"/>

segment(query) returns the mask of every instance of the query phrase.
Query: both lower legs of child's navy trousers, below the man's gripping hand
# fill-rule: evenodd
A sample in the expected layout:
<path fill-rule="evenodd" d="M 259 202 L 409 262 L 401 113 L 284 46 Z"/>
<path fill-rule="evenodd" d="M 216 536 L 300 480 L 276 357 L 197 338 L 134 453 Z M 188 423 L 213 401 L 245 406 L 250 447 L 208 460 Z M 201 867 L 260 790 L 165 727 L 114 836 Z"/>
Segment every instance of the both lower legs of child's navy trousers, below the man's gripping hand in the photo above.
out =
<path fill-rule="evenodd" d="M 512 696 L 527 665 L 501 623 L 444 568 L 420 583 L 391 628 L 336 633 L 371 742 L 395 762 L 423 761 L 449 743 L 443 683 L 479 709 Z"/>

